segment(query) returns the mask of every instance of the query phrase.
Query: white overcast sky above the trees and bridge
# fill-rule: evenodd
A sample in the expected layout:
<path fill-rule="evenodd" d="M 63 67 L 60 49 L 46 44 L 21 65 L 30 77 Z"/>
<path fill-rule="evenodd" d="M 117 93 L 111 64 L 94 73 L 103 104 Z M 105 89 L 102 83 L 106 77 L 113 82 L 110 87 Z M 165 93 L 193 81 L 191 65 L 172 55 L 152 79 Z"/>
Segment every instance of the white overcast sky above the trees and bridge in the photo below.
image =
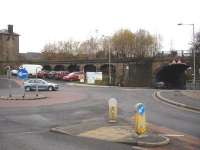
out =
<path fill-rule="evenodd" d="M 0 0 L 0 29 L 14 25 L 21 35 L 20 52 L 122 28 L 160 34 L 163 50 L 187 50 L 192 26 L 177 26 L 180 22 L 194 23 L 195 32 L 200 31 L 200 0 Z"/>

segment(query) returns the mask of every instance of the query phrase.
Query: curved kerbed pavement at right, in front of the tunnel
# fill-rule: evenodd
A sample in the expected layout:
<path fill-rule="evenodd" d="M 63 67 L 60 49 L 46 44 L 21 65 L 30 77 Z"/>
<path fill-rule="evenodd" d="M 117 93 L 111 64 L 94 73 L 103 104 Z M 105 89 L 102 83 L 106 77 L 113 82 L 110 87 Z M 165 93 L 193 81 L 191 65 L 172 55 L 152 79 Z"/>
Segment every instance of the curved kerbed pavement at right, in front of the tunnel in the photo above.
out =
<path fill-rule="evenodd" d="M 200 90 L 161 90 L 156 96 L 166 103 L 200 112 Z"/>

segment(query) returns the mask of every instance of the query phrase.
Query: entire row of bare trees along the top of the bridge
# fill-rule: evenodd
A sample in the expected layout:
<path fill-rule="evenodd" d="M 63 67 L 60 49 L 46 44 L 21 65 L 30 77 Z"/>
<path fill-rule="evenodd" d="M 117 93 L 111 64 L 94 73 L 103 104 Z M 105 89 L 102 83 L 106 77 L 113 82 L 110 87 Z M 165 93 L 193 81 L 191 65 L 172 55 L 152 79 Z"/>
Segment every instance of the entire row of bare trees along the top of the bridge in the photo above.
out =
<path fill-rule="evenodd" d="M 81 43 L 74 40 L 48 43 L 44 46 L 42 54 L 45 59 L 60 60 L 83 57 L 108 58 L 110 48 L 111 57 L 145 57 L 153 56 L 161 48 L 160 41 L 160 38 L 145 30 L 132 33 L 130 30 L 121 29 L 111 37 L 90 37 Z"/>

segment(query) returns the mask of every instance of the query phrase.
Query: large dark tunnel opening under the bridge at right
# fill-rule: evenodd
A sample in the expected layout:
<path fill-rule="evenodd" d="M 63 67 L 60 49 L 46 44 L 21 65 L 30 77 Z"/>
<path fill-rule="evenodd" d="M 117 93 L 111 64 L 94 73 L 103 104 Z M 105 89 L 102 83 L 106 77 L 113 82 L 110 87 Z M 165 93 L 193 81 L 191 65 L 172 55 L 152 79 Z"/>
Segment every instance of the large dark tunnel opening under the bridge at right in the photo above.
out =
<path fill-rule="evenodd" d="M 170 64 L 161 67 L 156 73 L 156 82 L 164 82 L 168 89 L 185 89 L 185 71 L 189 66 L 186 64 Z"/>

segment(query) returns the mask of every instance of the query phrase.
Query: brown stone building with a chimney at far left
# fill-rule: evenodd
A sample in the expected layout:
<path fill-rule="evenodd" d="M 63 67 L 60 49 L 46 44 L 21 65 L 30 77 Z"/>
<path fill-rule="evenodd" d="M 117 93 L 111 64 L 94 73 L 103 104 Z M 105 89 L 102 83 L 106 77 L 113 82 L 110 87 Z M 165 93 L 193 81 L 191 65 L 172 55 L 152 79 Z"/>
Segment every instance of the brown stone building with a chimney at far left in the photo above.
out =
<path fill-rule="evenodd" d="M 19 56 L 19 34 L 13 32 L 13 25 L 0 30 L 0 61 L 16 61 Z"/>

